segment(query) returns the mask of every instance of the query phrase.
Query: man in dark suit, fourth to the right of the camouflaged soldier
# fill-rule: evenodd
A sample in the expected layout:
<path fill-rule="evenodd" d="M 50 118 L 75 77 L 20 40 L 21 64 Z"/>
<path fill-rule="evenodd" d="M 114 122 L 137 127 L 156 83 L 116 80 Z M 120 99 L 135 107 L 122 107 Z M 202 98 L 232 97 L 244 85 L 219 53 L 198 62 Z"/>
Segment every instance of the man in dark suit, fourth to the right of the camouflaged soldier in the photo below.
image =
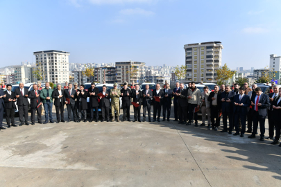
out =
<path fill-rule="evenodd" d="M 156 89 L 153 89 L 152 95 L 153 95 L 153 122 L 156 121 L 156 114 L 157 114 L 157 121 L 160 122 L 161 105 L 164 97 L 164 92 L 160 89 L 160 84 L 156 84 Z M 159 97 L 160 102 L 157 102 L 155 100 L 156 97 Z"/>

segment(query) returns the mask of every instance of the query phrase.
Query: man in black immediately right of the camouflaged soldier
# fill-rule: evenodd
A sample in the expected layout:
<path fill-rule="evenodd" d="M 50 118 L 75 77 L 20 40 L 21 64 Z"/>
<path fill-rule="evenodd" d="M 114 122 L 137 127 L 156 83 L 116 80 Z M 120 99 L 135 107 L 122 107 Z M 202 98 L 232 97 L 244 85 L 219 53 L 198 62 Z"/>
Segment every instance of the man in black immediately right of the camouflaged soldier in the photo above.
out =
<path fill-rule="evenodd" d="M 128 84 L 125 82 L 123 89 L 121 89 L 122 107 L 123 107 L 123 119 L 122 121 L 130 121 L 130 98 L 132 96 L 132 91 L 128 89 Z"/>

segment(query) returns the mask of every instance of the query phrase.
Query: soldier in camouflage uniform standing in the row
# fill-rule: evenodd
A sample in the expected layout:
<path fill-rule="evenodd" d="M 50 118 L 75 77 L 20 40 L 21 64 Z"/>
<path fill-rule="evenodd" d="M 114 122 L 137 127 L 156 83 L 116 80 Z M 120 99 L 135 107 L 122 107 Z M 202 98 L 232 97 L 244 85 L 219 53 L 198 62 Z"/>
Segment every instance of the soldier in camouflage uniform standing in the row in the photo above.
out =
<path fill-rule="evenodd" d="M 114 88 L 110 89 L 110 98 L 111 98 L 111 114 L 112 114 L 112 122 L 115 121 L 114 114 L 116 111 L 117 121 L 119 122 L 119 103 L 120 103 L 120 90 L 117 89 L 117 83 L 113 84 Z"/>

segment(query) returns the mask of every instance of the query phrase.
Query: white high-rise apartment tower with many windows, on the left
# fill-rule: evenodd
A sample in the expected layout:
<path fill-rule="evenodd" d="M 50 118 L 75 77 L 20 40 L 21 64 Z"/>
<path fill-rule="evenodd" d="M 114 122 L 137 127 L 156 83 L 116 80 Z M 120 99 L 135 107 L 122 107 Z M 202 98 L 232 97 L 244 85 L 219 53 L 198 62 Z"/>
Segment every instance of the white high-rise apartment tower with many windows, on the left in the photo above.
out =
<path fill-rule="evenodd" d="M 65 51 L 37 51 L 36 67 L 41 70 L 43 82 L 69 82 L 69 52 Z"/>

